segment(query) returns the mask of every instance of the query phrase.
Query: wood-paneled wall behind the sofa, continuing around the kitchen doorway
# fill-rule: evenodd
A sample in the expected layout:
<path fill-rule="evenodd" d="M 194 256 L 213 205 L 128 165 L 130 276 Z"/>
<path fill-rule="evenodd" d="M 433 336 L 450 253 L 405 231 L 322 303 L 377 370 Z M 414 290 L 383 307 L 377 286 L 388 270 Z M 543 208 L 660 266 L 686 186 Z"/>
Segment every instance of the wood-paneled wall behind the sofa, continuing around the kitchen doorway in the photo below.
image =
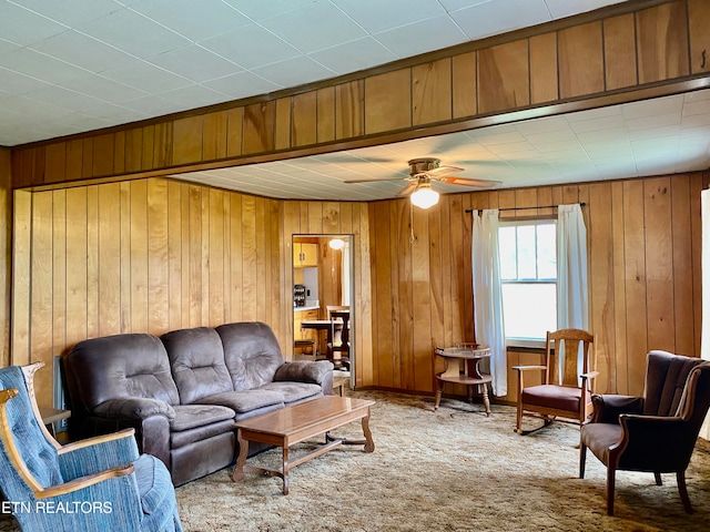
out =
<path fill-rule="evenodd" d="M 14 224 L 12 364 L 47 364 L 37 376 L 41 405 L 52 401 L 53 357 L 85 338 L 260 320 L 291 357 L 293 234 L 354 235 L 356 320 L 371 319 L 361 204 L 280 202 L 149 178 L 18 191 Z M 372 344 L 356 330 L 368 360 Z"/>

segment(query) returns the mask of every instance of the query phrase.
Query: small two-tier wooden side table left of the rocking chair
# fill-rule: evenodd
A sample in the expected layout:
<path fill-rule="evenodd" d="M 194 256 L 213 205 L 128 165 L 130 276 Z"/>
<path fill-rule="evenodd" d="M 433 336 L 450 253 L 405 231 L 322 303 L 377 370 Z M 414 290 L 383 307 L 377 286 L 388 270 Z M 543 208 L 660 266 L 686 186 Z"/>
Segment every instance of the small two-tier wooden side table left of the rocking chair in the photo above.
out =
<path fill-rule="evenodd" d="M 444 358 L 446 370 L 436 374 L 438 387 L 436 390 L 436 401 L 434 410 L 438 410 L 442 401 L 442 392 L 446 382 L 465 385 L 468 393 L 468 402 L 473 402 L 474 388 L 479 393 L 486 408 L 486 416 L 490 416 L 490 401 L 488 400 L 488 382 L 493 380 L 490 375 L 481 374 L 478 364 L 490 358 L 488 347 L 437 347 L 434 354 Z"/>

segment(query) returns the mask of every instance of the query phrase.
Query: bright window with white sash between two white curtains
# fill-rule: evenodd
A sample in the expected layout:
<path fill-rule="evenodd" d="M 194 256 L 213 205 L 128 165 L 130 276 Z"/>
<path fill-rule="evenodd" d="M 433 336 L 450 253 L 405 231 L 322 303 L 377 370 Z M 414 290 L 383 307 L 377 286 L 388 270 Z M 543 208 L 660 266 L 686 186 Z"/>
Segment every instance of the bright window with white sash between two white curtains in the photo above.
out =
<path fill-rule="evenodd" d="M 498 239 L 506 341 L 538 345 L 557 329 L 556 222 L 500 222 Z"/>

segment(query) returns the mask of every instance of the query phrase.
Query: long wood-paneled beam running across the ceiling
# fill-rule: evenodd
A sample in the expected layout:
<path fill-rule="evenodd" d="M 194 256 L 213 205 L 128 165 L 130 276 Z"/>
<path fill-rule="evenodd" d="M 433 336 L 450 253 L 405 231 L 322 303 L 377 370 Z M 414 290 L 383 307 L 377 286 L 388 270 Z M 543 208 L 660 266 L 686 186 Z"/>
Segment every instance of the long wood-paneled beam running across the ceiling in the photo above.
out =
<path fill-rule="evenodd" d="M 12 186 L 276 161 L 707 88 L 708 20 L 704 0 L 630 1 L 310 90 L 21 145 Z"/>

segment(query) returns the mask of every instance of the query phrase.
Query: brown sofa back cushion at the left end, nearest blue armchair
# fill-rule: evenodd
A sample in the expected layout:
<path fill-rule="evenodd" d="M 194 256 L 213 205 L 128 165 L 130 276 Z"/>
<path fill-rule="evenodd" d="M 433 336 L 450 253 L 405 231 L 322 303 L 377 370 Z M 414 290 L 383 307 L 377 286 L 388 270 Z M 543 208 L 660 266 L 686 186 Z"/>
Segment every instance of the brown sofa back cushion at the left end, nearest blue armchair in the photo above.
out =
<path fill-rule="evenodd" d="M 93 407 L 109 399 L 143 397 L 179 405 L 168 354 L 152 335 L 128 334 L 91 338 L 64 357 L 72 408 Z"/>

